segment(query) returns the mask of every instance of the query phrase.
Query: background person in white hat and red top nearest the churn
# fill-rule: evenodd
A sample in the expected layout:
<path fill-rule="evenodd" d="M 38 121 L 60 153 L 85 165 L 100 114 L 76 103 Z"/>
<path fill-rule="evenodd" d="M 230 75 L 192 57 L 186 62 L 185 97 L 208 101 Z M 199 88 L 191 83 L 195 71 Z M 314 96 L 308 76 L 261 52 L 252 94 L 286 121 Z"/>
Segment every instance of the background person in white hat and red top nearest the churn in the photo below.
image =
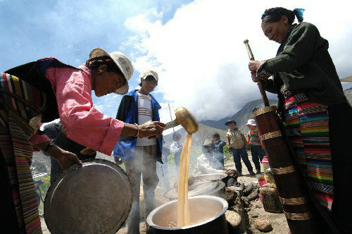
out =
<path fill-rule="evenodd" d="M 263 160 L 264 155 L 256 121 L 251 118 L 246 123 L 246 126 L 249 128 L 247 137 L 249 142 L 249 150 L 251 150 L 252 161 L 254 166 L 256 166 L 257 174 L 260 174 L 260 162 Z"/>

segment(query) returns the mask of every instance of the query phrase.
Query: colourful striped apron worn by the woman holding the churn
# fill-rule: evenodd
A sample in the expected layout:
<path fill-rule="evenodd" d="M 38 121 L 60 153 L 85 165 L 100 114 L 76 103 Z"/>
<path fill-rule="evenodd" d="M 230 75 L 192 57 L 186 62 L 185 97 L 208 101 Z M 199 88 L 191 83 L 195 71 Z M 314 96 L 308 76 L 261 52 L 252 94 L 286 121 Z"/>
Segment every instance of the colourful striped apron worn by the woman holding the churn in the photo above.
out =
<path fill-rule="evenodd" d="M 334 187 L 327 106 L 309 101 L 304 94 L 289 97 L 284 125 L 313 195 L 331 211 Z"/>

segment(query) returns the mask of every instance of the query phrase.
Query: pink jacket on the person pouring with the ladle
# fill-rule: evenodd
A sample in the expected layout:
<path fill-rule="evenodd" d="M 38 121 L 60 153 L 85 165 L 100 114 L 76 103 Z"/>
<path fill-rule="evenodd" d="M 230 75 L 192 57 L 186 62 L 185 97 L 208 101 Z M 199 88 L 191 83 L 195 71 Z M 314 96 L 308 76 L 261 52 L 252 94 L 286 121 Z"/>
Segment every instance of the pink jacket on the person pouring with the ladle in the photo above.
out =
<path fill-rule="evenodd" d="M 56 94 L 58 113 L 71 140 L 111 155 L 125 123 L 100 113 L 92 102 L 92 74 L 86 66 L 48 68 L 46 78 Z M 32 137 L 35 141 L 35 136 Z"/>

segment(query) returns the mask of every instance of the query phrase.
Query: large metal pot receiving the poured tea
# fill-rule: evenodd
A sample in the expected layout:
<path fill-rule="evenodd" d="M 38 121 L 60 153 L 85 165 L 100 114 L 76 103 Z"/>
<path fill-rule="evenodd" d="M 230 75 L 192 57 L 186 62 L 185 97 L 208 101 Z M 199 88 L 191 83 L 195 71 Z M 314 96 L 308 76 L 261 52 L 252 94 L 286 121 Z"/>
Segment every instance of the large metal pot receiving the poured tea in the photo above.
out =
<path fill-rule="evenodd" d="M 146 218 L 149 233 L 202 233 L 227 234 L 225 211 L 228 204 L 225 199 L 214 196 L 189 197 L 191 226 L 176 227 L 177 200 L 157 207 Z"/>

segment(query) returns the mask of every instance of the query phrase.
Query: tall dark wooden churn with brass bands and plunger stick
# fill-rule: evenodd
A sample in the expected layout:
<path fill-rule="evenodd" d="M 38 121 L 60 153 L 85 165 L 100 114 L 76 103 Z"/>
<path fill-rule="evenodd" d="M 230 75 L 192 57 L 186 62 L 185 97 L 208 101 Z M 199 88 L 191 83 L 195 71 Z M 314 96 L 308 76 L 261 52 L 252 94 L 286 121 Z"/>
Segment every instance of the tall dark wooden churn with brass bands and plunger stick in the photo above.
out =
<path fill-rule="evenodd" d="M 244 44 L 246 44 L 249 59 L 254 60 L 247 39 Z M 265 107 L 253 111 L 253 118 L 256 120 L 260 140 L 262 140 L 265 153 L 268 156 L 289 229 L 293 234 L 320 233 L 314 204 L 309 198 L 303 176 L 287 142 L 277 107 L 269 105 L 268 97 L 260 80 L 258 80 L 258 87 Z"/>

